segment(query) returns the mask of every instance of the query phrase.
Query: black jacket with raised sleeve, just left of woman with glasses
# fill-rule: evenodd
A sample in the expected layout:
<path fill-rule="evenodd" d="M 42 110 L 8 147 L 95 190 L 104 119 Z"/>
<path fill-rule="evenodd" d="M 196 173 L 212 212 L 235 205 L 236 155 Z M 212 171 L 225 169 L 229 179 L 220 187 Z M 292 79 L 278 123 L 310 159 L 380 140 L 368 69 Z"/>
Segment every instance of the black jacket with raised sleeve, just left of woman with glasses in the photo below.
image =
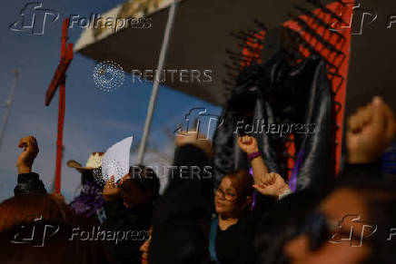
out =
<path fill-rule="evenodd" d="M 210 166 L 208 156 L 194 145 L 177 148 L 173 165 Z M 196 177 L 192 170 L 173 173 L 163 199 L 155 206 L 151 264 L 210 263 L 208 233 L 213 208 L 213 177 Z"/>

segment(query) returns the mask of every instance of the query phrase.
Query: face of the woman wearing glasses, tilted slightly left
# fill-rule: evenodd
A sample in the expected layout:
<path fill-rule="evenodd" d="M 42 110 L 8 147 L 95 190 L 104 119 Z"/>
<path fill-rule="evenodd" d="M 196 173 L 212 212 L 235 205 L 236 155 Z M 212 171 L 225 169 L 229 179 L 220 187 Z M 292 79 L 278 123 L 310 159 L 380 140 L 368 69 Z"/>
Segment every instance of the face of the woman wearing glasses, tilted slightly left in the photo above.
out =
<path fill-rule="evenodd" d="M 237 209 L 236 190 L 233 182 L 224 177 L 214 196 L 214 206 L 218 214 L 233 214 Z"/>

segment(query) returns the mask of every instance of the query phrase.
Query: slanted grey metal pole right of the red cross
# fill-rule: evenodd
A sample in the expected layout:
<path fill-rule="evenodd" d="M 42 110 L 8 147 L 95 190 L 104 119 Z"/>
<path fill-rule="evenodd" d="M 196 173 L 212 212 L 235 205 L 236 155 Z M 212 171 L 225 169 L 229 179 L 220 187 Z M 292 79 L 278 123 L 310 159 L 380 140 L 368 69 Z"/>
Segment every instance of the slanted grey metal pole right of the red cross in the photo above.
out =
<path fill-rule="evenodd" d="M 153 80 L 153 92 L 152 92 L 152 95 L 150 98 L 150 103 L 149 103 L 149 106 L 147 109 L 147 117 L 146 117 L 145 123 L 144 123 L 143 139 L 142 139 L 142 142 L 140 143 L 139 152 L 138 152 L 138 159 L 137 159 L 138 164 L 143 164 L 143 162 L 144 162 L 144 152 L 145 152 L 145 149 L 147 146 L 148 136 L 150 134 L 150 128 L 151 128 L 152 119 L 153 119 L 155 102 L 157 100 L 157 95 L 158 95 L 158 87 L 160 84 L 159 83 L 160 74 L 163 72 L 163 64 L 166 59 L 166 54 L 167 54 L 168 46 L 169 46 L 169 40 L 170 40 L 170 36 L 171 36 L 172 30 L 173 30 L 176 6 L 177 6 L 177 0 L 173 1 L 173 4 L 169 8 L 168 21 L 166 23 L 165 33 L 163 34 L 163 44 L 161 45 L 160 58 L 158 60 L 157 71 L 155 73 L 155 78 Z"/>

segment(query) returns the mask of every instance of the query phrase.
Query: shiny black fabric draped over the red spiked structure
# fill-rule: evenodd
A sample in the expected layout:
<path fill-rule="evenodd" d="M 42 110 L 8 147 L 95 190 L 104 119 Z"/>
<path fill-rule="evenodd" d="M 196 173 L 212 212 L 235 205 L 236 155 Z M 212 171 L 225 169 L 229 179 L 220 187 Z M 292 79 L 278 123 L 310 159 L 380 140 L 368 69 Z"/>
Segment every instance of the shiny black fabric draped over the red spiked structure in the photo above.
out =
<path fill-rule="evenodd" d="M 301 153 L 295 191 L 321 190 L 332 181 L 332 95 L 326 64 L 312 55 L 291 65 L 283 51 L 265 64 L 252 64 L 238 77 L 214 134 L 214 164 L 217 180 L 233 171 L 246 170 L 248 161 L 236 144 L 238 121 L 259 123 L 251 134 L 259 143 L 269 169 L 288 175 L 288 137 L 282 124 L 293 128 L 296 154 Z M 262 129 L 262 125 L 265 128 Z M 274 128 L 274 129 L 272 129 Z"/>

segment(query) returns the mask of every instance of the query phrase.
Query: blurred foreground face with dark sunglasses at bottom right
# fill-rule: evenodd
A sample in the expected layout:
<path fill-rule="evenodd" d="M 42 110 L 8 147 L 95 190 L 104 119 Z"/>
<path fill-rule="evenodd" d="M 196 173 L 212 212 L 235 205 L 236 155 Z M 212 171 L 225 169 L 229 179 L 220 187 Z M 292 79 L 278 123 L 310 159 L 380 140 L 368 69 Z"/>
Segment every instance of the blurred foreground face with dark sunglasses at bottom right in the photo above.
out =
<path fill-rule="evenodd" d="M 325 240 L 317 250 L 310 249 L 310 237 L 301 235 L 294 240 L 290 240 L 284 247 L 285 254 L 292 264 L 358 264 L 367 259 L 371 249 L 369 245 L 363 243 L 361 247 L 360 238 L 363 223 L 352 221 L 360 217 L 361 221 L 370 220 L 368 210 L 356 191 L 339 189 L 322 201 L 319 207 L 320 212 L 327 220 L 333 221 L 336 226 L 330 232 L 330 237 L 337 234 L 333 242 Z M 347 217 L 348 215 L 354 215 Z M 342 221 L 341 232 L 337 227 Z M 353 238 L 349 240 L 351 230 Z M 342 237 L 339 237 L 341 235 Z M 336 239 L 338 238 L 338 239 Z M 340 240 L 347 238 L 347 240 Z M 352 245 L 352 246 L 351 246 Z"/>

